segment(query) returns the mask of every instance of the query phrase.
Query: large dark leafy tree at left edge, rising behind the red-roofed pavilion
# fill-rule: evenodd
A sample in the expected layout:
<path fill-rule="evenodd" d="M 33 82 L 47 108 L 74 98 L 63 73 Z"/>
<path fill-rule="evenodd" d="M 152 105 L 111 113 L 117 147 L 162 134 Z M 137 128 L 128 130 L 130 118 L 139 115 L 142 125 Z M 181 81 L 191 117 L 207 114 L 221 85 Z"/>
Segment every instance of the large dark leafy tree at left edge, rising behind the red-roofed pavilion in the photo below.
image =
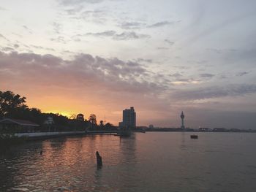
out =
<path fill-rule="evenodd" d="M 15 95 L 12 91 L 0 91 L 0 116 L 11 117 L 20 110 L 28 110 L 26 97 Z"/>

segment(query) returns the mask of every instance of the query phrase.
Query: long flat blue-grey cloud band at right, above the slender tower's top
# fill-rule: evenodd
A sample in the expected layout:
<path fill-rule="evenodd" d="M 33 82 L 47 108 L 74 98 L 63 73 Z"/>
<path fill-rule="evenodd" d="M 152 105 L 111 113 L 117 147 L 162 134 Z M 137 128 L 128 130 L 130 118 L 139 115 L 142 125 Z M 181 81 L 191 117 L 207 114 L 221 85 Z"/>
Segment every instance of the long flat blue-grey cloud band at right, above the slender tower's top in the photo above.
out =
<path fill-rule="evenodd" d="M 207 88 L 187 89 L 186 91 L 177 91 L 173 93 L 173 98 L 183 100 L 201 100 L 214 99 L 225 96 L 244 96 L 250 93 L 256 93 L 255 84 L 233 84 L 223 87 L 213 86 Z"/>

